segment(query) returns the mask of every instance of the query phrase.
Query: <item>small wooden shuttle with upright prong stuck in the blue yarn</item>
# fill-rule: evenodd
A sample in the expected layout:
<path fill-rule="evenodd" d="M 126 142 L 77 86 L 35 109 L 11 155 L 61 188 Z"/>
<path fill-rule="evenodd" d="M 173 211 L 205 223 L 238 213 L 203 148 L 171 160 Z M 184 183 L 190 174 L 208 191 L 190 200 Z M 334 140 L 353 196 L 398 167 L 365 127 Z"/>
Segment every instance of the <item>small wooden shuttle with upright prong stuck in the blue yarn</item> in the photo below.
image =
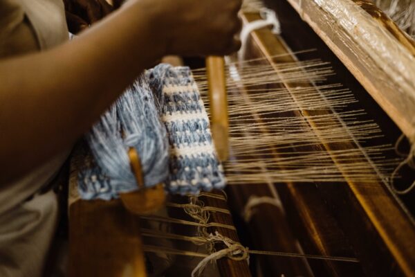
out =
<path fill-rule="evenodd" d="M 136 175 L 139 189 L 131 193 L 121 193 L 120 198 L 122 204 L 124 204 L 128 211 L 137 215 L 154 213 L 165 204 L 166 195 L 163 184 L 158 184 L 152 188 L 145 188 L 140 157 L 138 156 L 137 150 L 130 148 L 128 155 L 131 170 Z"/>

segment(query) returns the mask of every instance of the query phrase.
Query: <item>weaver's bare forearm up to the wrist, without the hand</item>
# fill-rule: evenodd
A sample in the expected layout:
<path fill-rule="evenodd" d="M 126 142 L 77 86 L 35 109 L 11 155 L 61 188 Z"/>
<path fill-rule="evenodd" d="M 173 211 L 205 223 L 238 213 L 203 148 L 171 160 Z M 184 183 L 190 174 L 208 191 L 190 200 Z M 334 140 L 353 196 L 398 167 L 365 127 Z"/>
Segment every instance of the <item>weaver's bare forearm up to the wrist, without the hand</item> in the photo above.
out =
<path fill-rule="evenodd" d="M 147 2 L 51 51 L 0 62 L 0 184 L 70 147 L 163 55 Z"/>

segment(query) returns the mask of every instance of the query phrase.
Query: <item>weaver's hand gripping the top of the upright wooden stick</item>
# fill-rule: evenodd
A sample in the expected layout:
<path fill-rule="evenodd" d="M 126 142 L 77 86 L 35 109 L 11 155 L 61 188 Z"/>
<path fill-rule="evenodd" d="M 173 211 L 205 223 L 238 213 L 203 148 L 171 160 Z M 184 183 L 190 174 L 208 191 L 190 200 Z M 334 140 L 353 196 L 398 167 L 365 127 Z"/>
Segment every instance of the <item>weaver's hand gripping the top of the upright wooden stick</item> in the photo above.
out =
<path fill-rule="evenodd" d="M 162 0 L 158 24 L 165 35 L 166 53 L 174 55 L 226 55 L 241 42 L 238 17 L 241 0 Z"/>

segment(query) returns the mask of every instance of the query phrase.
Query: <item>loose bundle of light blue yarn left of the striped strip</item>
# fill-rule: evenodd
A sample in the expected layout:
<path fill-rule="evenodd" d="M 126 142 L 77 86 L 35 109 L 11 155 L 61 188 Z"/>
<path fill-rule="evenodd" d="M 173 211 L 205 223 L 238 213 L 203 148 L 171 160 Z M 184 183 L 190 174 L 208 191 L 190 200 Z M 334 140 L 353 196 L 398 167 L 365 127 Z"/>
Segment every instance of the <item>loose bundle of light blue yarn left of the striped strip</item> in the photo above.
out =
<path fill-rule="evenodd" d="M 168 142 L 147 80 L 138 79 L 86 134 L 93 161 L 80 171 L 82 199 L 113 199 L 138 189 L 128 149 L 140 155 L 145 186 L 167 179 Z"/>

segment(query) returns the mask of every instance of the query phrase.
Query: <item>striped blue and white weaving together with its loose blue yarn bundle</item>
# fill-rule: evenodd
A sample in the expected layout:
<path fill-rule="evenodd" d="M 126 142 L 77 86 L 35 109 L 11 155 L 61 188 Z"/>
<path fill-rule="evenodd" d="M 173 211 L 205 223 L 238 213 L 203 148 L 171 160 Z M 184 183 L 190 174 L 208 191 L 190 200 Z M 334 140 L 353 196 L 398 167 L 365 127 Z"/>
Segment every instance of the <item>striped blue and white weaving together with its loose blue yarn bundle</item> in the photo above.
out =
<path fill-rule="evenodd" d="M 152 92 L 151 92 L 152 91 Z M 145 186 L 170 193 L 223 188 L 208 115 L 187 67 L 160 64 L 147 71 L 86 134 L 78 177 L 82 199 L 113 199 L 137 190 L 128 149 L 136 148 Z"/>

